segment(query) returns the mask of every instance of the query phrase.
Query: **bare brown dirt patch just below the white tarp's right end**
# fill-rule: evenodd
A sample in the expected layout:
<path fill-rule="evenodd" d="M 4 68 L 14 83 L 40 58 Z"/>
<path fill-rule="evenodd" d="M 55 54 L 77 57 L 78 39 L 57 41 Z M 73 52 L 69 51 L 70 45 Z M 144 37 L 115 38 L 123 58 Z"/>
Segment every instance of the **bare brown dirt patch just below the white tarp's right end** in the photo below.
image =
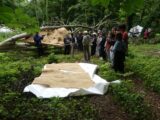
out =
<path fill-rule="evenodd" d="M 104 96 L 92 96 L 91 103 L 98 109 L 99 120 L 129 120 L 127 113 L 107 94 Z"/>

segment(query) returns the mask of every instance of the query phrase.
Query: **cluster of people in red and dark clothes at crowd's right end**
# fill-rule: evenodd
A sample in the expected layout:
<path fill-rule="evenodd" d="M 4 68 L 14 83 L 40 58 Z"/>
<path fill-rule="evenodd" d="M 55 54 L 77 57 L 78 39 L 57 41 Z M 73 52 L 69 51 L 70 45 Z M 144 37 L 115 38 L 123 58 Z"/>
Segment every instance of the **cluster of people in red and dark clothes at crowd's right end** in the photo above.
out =
<path fill-rule="evenodd" d="M 108 32 L 105 49 L 108 61 L 115 71 L 124 73 L 125 56 L 128 54 L 128 33 L 125 24 Z"/>

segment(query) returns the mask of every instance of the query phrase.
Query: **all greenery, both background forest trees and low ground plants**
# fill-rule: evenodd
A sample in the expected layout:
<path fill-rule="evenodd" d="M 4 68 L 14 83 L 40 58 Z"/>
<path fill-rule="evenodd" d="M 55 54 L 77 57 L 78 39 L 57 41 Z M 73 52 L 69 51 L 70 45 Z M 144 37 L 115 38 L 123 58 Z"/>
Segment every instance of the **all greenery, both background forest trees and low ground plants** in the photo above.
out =
<path fill-rule="evenodd" d="M 0 42 L 17 31 L 34 33 L 42 25 L 83 25 L 108 31 L 126 23 L 128 29 L 135 25 L 151 28 L 151 38 L 135 38 L 135 45 L 129 46 L 125 74 L 115 73 L 109 63 L 96 57 L 91 63 L 99 66 L 98 75 L 107 81 L 122 80 L 120 84 L 111 84 L 108 94 L 129 114 L 129 119 L 154 120 L 154 111 L 145 101 L 144 93 L 136 92 L 132 79 L 140 78 L 147 91 L 160 94 L 160 45 L 155 44 L 160 42 L 159 6 L 159 0 L 0 0 L 0 27 L 8 26 L 15 31 L 0 33 Z M 62 49 L 52 47 L 46 48 L 42 57 L 37 57 L 35 51 L 0 52 L 0 118 L 98 120 L 99 110 L 89 102 L 89 96 L 38 99 L 23 93 L 45 64 L 81 62 L 83 58 L 81 53 L 74 57 L 62 55 Z"/>

